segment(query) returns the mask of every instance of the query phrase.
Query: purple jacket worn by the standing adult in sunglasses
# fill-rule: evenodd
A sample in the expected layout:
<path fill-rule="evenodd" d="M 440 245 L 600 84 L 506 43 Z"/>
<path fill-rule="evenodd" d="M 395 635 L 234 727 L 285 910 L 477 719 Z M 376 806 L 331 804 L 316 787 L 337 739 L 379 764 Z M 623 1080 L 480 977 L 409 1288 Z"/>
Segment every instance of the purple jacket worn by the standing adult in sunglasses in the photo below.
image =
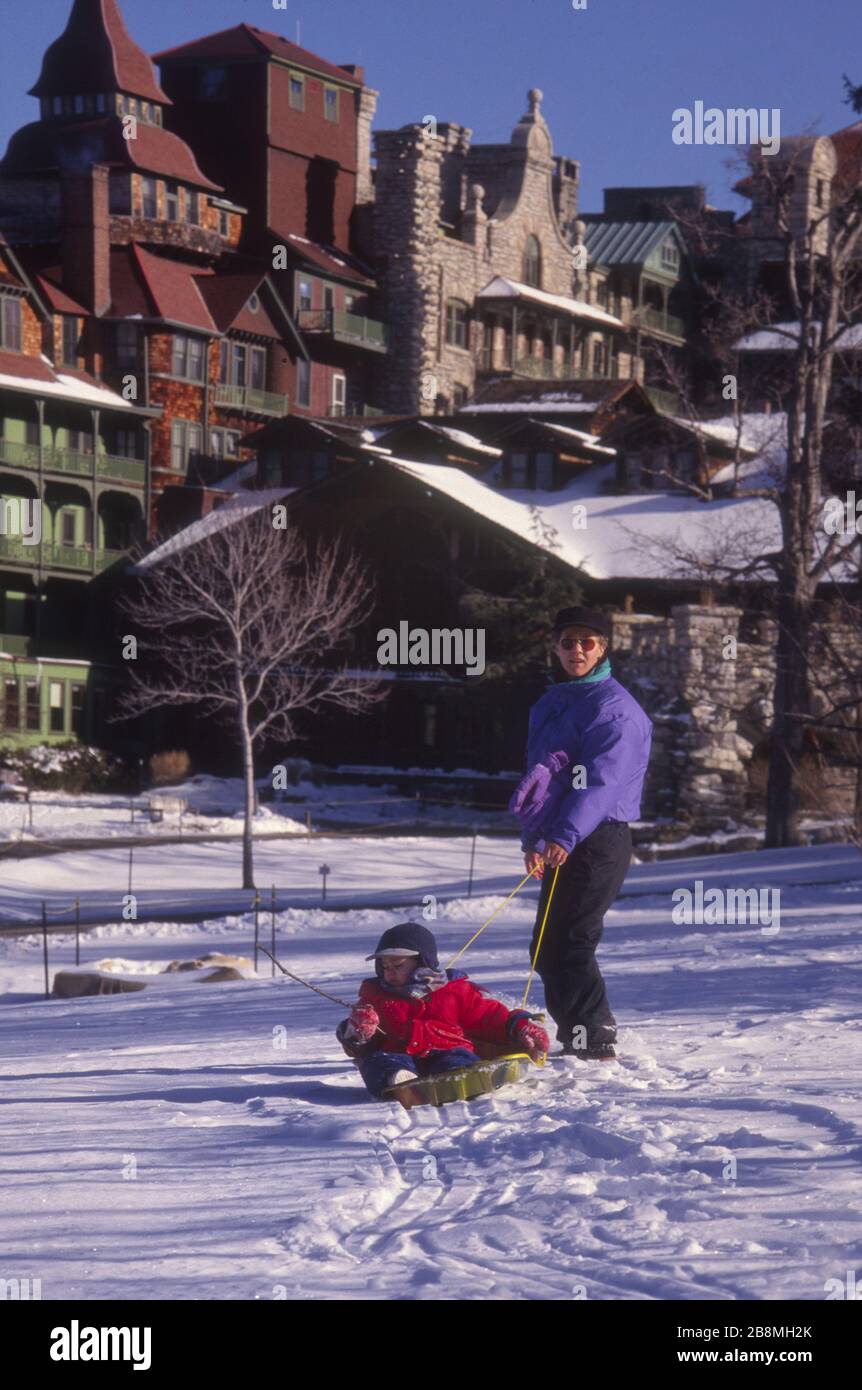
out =
<path fill-rule="evenodd" d="M 530 710 L 530 771 L 509 802 L 523 851 L 571 851 L 606 820 L 637 820 L 651 741 L 652 720 L 613 676 L 542 695 Z"/>

